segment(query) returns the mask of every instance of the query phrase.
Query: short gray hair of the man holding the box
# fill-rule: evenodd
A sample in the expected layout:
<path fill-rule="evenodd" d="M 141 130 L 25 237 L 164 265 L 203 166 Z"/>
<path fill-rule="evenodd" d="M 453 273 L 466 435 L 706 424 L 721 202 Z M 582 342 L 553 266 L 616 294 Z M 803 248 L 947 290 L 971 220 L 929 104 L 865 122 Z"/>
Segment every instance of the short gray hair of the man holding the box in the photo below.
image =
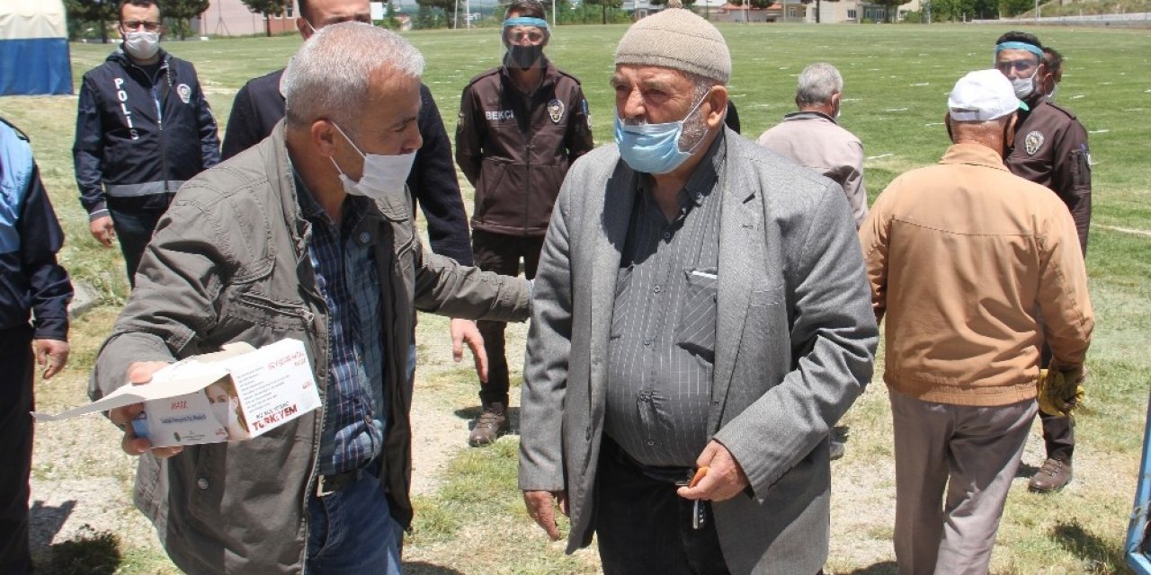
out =
<path fill-rule="evenodd" d="M 372 74 L 388 68 L 418 78 L 424 56 L 395 32 L 361 22 L 321 28 L 304 43 L 283 76 L 288 124 L 329 118 L 356 130 L 371 95 Z"/>

